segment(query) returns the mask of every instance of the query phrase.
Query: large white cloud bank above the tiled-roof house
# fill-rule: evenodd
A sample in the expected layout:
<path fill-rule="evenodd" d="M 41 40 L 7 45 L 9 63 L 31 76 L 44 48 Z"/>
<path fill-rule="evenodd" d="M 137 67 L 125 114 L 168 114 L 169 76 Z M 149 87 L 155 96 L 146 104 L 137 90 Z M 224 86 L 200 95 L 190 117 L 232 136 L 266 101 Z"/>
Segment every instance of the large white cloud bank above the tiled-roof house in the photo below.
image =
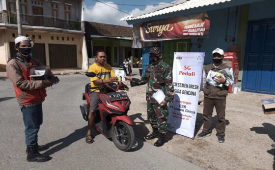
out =
<path fill-rule="evenodd" d="M 114 3 L 112 1 L 108 1 L 108 2 Z M 119 9 L 118 5 L 110 4 L 110 3 L 108 3 L 108 5 Z M 162 4 L 162 2 L 159 4 Z M 101 2 L 96 2 L 93 6 L 88 6 L 88 7 L 85 6 L 85 13 L 84 13 L 85 21 L 108 23 L 108 24 L 131 26 L 131 27 L 133 26 L 133 25 L 128 25 L 126 21 L 119 21 L 121 18 L 129 16 L 128 14 L 122 13 L 114 8 L 111 8 L 110 6 L 107 6 Z M 146 6 L 144 10 L 135 8 L 128 13 L 135 16 L 138 13 L 149 10 L 153 7 L 155 6 L 152 6 L 152 5 Z"/>

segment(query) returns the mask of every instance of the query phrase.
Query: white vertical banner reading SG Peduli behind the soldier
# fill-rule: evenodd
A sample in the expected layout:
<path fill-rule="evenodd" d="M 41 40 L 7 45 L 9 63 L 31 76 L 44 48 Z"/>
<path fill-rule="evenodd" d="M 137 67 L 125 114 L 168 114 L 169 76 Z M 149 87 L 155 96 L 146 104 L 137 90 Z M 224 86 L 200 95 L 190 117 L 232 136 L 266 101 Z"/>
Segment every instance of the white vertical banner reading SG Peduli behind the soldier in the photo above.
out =
<path fill-rule="evenodd" d="M 174 53 L 175 96 L 169 104 L 168 130 L 190 138 L 194 138 L 204 55 L 202 52 Z"/>

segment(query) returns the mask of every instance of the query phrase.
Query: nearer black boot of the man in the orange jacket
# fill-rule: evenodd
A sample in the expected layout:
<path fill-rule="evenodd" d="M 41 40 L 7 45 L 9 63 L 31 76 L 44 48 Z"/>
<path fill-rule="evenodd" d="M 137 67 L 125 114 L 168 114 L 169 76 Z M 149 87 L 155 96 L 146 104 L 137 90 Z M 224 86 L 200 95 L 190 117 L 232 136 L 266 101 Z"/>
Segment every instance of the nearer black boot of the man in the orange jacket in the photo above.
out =
<path fill-rule="evenodd" d="M 38 145 L 27 147 L 27 161 L 28 162 L 47 162 L 52 159 L 52 157 L 43 155 L 38 152 Z"/>

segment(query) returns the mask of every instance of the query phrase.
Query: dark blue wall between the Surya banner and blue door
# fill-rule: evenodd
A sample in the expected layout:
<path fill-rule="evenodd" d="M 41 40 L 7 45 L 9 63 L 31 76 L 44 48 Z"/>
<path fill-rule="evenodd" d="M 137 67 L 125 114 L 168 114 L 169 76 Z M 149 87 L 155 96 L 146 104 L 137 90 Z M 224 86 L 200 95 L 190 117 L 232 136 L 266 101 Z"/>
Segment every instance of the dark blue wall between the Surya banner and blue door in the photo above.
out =
<path fill-rule="evenodd" d="M 236 31 L 236 44 L 240 46 L 240 59 L 239 59 L 239 80 L 242 80 L 243 66 L 245 58 L 245 49 L 247 41 L 247 22 L 253 20 L 262 20 L 268 18 L 274 18 L 275 12 L 275 0 L 265 0 L 262 2 L 250 3 L 247 5 L 239 6 L 238 24 Z M 228 25 L 228 35 L 234 36 L 235 30 L 235 16 L 237 7 L 230 8 L 230 18 Z M 210 17 L 210 35 L 209 38 L 204 38 L 201 44 L 201 48 L 197 47 L 197 39 L 192 39 L 191 51 L 206 52 L 204 64 L 212 62 L 211 53 L 216 47 L 222 48 L 224 51 L 228 50 L 228 46 L 233 43 L 225 42 L 225 33 L 227 25 L 227 12 L 228 8 L 208 11 L 207 14 Z M 218 15 L 217 15 L 218 14 Z"/>

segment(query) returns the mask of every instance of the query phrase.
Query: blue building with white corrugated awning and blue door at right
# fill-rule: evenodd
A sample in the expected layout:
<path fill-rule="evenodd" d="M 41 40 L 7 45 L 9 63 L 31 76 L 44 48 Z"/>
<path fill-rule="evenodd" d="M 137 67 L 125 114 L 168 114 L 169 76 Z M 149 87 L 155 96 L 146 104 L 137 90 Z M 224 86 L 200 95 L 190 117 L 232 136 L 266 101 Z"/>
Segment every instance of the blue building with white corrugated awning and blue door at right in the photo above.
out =
<path fill-rule="evenodd" d="M 208 38 L 162 41 L 164 53 L 169 45 L 174 52 L 178 43 L 182 51 L 206 52 L 204 64 L 212 62 L 212 51 L 219 47 L 236 52 L 239 61 L 239 86 L 242 90 L 275 94 L 275 1 L 274 0 L 182 0 L 163 8 L 123 20 L 142 23 L 206 12 L 210 18 Z M 187 46 L 187 47 L 186 47 Z M 187 49 L 187 50 L 185 50 Z M 169 52 L 165 60 L 173 61 Z"/>

